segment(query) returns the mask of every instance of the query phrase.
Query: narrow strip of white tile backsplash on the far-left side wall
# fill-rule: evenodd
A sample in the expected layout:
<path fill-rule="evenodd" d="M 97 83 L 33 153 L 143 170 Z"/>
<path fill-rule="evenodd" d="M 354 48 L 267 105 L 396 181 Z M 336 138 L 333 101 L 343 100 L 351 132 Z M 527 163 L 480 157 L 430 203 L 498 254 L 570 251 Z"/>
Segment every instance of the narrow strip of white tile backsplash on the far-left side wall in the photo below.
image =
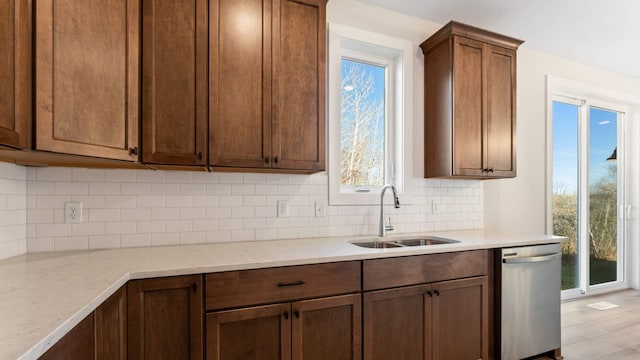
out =
<path fill-rule="evenodd" d="M 27 170 L 0 162 L 0 259 L 27 249 Z"/>

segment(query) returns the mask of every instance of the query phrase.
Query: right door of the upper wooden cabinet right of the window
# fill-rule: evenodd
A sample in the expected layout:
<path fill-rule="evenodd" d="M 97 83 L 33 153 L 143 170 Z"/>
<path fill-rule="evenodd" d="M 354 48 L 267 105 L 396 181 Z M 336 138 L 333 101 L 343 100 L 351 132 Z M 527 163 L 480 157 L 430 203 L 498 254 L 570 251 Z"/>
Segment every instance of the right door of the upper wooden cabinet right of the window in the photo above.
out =
<path fill-rule="evenodd" d="M 487 45 L 487 167 L 515 177 L 516 52 Z"/>

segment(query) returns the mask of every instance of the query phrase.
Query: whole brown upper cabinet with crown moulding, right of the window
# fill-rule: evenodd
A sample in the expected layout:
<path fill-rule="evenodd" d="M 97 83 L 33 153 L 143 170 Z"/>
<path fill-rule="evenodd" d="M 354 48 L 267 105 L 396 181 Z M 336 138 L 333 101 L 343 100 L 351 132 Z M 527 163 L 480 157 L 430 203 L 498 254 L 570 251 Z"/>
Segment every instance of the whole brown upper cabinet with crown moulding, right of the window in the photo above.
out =
<path fill-rule="evenodd" d="M 425 177 L 516 176 L 516 50 L 522 41 L 450 22 L 425 54 Z"/>

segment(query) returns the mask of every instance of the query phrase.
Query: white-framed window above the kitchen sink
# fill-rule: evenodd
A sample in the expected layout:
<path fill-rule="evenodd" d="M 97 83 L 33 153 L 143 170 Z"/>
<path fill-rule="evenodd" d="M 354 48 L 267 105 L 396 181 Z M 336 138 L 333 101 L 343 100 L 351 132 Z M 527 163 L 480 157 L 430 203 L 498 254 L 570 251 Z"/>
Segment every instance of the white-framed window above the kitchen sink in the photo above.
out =
<path fill-rule="evenodd" d="M 337 24 L 329 29 L 329 202 L 376 204 L 385 184 L 405 190 L 413 45 Z"/>

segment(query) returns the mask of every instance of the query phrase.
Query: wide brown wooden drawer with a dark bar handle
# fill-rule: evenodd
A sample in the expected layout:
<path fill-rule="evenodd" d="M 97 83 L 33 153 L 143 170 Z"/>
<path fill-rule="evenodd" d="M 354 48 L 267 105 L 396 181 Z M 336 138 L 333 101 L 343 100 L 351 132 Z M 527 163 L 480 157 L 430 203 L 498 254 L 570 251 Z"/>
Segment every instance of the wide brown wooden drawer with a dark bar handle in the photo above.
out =
<path fill-rule="evenodd" d="M 205 276 L 207 310 L 360 291 L 360 261 L 229 271 Z"/>

